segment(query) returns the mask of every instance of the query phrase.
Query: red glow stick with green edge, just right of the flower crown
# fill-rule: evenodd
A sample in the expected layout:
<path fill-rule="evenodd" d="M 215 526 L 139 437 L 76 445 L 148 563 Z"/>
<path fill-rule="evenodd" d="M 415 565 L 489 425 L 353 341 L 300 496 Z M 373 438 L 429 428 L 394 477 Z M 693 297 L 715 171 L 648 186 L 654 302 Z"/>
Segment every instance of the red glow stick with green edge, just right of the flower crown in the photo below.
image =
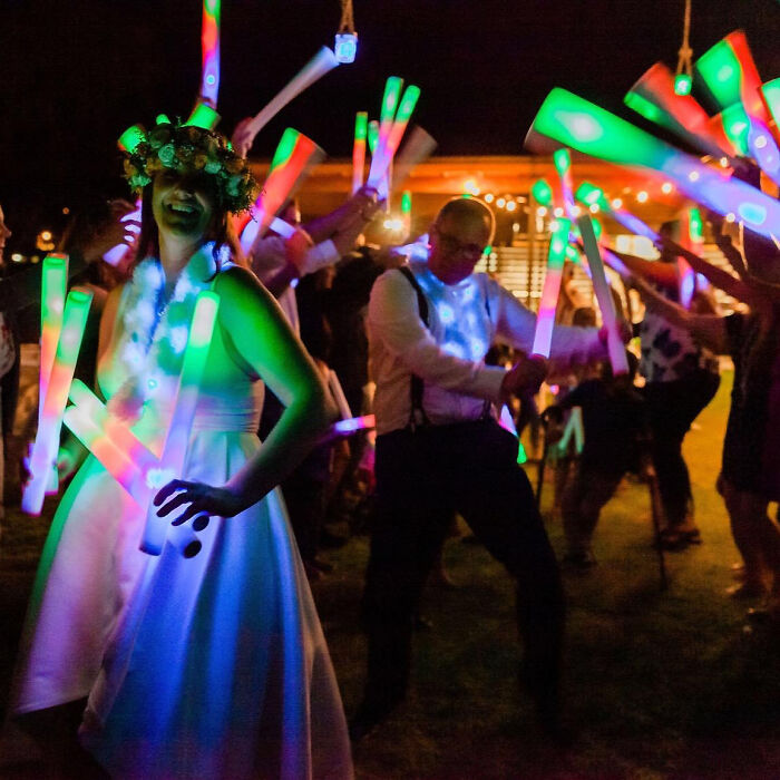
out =
<path fill-rule="evenodd" d="M 311 138 L 291 127 L 284 130 L 252 211 L 236 218 L 236 233 L 241 235 L 241 246 L 245 252 L 324 156 L 325 153 Z"/>

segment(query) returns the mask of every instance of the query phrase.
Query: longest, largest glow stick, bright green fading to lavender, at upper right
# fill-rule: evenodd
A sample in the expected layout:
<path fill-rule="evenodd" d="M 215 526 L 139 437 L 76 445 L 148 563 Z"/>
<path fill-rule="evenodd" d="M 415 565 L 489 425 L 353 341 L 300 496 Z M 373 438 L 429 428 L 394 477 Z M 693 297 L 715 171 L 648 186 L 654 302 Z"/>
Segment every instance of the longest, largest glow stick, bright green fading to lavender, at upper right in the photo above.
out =
<path fill-rule="evenodd" d="M 526 144 L 547 148 L 543 138 L 617 165 L 662 173 L 690 198 L 719 214 L 733 214 L 745 227 L 767 237 L 780 224 L 780 203 L 773 198 L 744 182 L 725 178 L 695 157 L 565 89 L 556 88 L 547 96 Z"/>

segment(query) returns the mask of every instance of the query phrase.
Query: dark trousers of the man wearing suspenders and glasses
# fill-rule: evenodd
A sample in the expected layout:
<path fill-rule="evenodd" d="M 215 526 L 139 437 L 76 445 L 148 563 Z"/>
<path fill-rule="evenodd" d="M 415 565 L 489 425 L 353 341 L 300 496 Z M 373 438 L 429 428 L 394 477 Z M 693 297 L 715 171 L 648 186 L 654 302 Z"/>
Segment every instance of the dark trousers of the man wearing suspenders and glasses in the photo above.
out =
<path fill-rule="evenodd" d="M 454 511 L 517 582 L 521 682 L 545 704 L 557 694 L 564 597 L 557 562 L 517 439 L 494 420 L 398 430 L 377 439 L 377 515 L 362 604 L 369 640 L 363 714 L 404 695 L 412 617 Z"/>

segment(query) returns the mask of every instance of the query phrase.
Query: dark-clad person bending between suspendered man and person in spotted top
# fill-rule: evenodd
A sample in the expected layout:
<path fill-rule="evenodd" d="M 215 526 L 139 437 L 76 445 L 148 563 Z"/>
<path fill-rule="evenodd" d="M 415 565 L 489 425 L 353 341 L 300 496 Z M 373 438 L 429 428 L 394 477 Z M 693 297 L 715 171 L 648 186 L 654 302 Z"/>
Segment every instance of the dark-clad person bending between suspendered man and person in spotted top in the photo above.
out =
<path fill-rule="evenodd" d="M 604 505 L 615 495 L 626 471 L 638 471 L 641 448 L 649 440 L 644 400 L 636 391 L 636 358 L 626 352 L 630 373 L 613 376 L 608 361 L 601 378 L 586 379 L 545 415 L 563 419 L 574 407 L 583 410 L 585 443 L 574 479 L 562 497 L 566 553 L 563 563 L 576 569 L 595 566 L 592 539 Z"/>

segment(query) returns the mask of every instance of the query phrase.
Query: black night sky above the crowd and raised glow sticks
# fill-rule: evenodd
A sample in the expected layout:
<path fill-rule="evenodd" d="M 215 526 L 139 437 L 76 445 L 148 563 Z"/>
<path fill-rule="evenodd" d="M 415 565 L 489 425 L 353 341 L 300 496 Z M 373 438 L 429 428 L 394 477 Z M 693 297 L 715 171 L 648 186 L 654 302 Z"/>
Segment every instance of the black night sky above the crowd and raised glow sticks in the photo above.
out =
<path fill-rule="evenodd" d="M 684 0 L 353 0 L 358 58 L 261 131 L 286 126 L 351 154 L 357 110 L 376 117 L 387 76 L 420 86 L 416 120 L 437 154 L 520 154 L 547 91 L 564 86 L 630 117 L 622 98 L 653 62 L 674 68 Z M 17 236 L 62 206 L 121 194 L 116 138 L 156 114 L 186 117 L 199 85 L 201 0 L 0 0 L 0 203 Z M 322 45 L 338 0 L 223 0 L 221 128 L 255 114 Z M 777 0 L 693 0 L 694 58 L 742 28 L 780 76 Z M 632 120 L 641 124 L 635 116 Z"/>

